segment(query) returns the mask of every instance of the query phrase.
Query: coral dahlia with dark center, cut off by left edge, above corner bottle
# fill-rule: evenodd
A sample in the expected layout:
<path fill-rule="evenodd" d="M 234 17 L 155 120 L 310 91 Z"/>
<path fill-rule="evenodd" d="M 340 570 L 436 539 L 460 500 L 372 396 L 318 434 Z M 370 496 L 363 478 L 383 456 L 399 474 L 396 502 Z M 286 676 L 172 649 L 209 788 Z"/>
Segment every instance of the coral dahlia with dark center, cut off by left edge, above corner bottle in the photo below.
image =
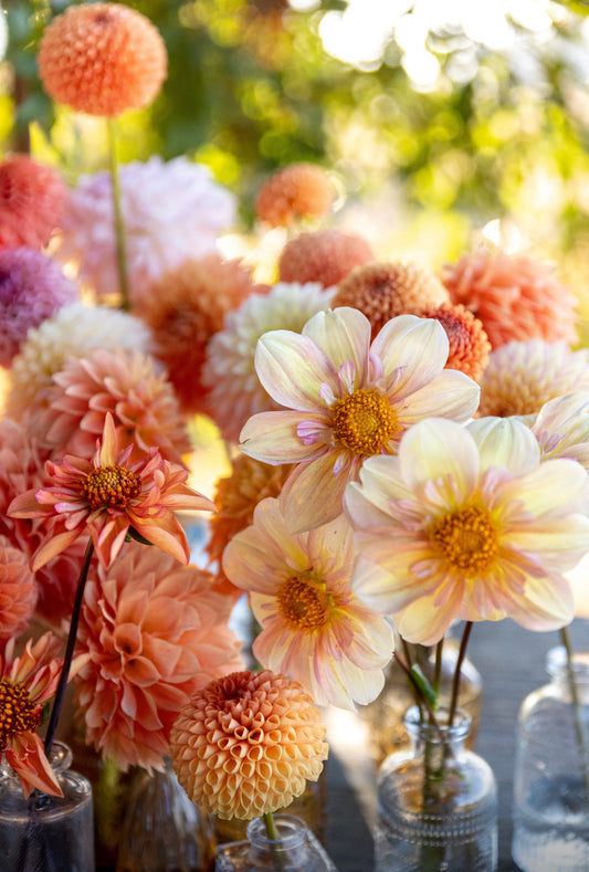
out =
<path fill-rule="evenodd" d="M 62 642 L 48 632 L 34 643 L 29 639 L 17 658 L 14 643 L 13 637 L 0 655 L 0 754 L 4 753 L 18 775 L 25 798 L 34 788 L 61 797 L 36 729 L 43 721 L 43 705 L 57 687 L 62 660 L 55 654 Z M 70 679 L 84 662 L 84 656 L 74 658 Z"/>

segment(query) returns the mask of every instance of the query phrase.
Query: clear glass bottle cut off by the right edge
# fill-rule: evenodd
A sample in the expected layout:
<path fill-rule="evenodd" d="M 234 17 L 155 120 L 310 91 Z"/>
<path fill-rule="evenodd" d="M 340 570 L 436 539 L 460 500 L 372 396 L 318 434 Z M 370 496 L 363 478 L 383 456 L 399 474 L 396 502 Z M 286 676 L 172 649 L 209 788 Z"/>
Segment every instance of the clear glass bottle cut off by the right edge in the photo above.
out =
<path fill-rule="evenodd" d="M 589 652 L 548 652 L 550 681 L 519 710 L 513 859 L 524 872 L 589 870 Z"/>

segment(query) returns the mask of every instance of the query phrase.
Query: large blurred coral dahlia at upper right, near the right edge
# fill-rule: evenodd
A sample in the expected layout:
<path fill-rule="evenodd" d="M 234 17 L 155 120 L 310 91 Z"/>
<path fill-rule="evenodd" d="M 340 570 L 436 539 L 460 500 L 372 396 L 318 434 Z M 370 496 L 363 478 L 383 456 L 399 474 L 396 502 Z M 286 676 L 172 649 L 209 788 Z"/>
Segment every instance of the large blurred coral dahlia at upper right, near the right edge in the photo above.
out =
<path fill-rule="evenodd" d="M 452 303 L 483 322 L 493 348 L 539 338 L 574 343 L 575 297 L 551 264 L 525 254 L 480 250 L 442 272 Z"/>

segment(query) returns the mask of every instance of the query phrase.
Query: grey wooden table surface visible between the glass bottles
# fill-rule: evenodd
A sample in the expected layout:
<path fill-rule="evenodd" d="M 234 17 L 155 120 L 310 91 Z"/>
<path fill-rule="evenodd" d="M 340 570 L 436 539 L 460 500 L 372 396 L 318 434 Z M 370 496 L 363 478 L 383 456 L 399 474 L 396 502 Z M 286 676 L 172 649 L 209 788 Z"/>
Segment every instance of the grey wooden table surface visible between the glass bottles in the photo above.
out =
<path fill-rule="evenodd" d="M 589 621 L 574 621 L 569 632 L 576 649 L 589 649 Z M 530 691 L 548 681 L 546 653 L 558 643 L 557 632 L 533 633 L 511 620 L 475 624 L 471 635 L 469 656 L 483 676 L 476 752 L 491 765 L 497 781 L 497 872 L 517 872 L 511 840 L 518 708 Z M 326 848 L 338 872 L 372 872 L 374 768 L 354 715 L 338 713 L 334 724 L 328 717 L 328 724 Z"/>

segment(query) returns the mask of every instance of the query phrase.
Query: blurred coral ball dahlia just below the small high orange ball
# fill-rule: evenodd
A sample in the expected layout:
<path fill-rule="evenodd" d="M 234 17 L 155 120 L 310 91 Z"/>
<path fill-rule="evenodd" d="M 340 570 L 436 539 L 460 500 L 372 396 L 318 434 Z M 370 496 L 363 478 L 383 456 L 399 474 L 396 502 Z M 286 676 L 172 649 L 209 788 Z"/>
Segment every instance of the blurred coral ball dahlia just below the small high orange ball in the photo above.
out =
<path fill-rule="evenodd" d="M 278 261 L 278 275 L 281 282 L 318 282 L 332 287 L 374 256 L 368 242 L 356 233 L 317 230 L 301 233 L 286 243 Z"/>

